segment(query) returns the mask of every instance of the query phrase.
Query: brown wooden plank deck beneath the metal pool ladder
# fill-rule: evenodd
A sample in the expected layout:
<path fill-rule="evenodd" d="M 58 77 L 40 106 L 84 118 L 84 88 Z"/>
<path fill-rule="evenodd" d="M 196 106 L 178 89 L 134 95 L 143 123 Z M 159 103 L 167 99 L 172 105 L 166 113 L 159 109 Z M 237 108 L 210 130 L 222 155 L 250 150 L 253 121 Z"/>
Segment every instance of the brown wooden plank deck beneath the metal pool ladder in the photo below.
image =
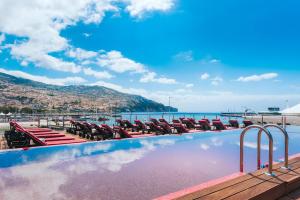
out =
<path fill-rule="evenodd" d="M 178 191 L 157 200 L 220 200 L 220 199 L 257 199 L 257 200 L 291 200 L 300 199 L 300 156 L 289 160 L 290 170 L 281 168 L 282 163 L 275 164 L 273 173 L 265 174 L 267 169 L 260 169 L 253 173 L 241 174 L 222 183 L 216 183 L 206 188 L 197 187 Z M 190 192 L 188 192 L 190 190 Z"/>

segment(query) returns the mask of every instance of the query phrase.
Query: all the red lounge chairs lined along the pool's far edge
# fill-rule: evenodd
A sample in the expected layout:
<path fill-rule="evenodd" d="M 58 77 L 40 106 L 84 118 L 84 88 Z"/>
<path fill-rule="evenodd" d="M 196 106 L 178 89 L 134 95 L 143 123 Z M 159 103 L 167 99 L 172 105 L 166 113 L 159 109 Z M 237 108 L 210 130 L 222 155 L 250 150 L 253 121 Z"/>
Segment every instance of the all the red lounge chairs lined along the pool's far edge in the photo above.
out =
<path fill-rule="evenodd" d="M 193 118 L 174 119 L 172 123 L 167 122 L 163 118 L 159 120 L 152 118 L 146 123 L 135 120 L 135 123 L 132 124 L 129 120 L 121 119 L 116 120 L 116 122 L 118 126 L 110 127 L 106 124 L 97 125 L 71 120 L 71 127 L 67 129 L 67 132 L 90 140 L 106 140 L 193 133 L 208 130 L 220 131 L 246 127 L 253 124 L 251 121 L 244 120 L 244 125 L 240 126 L 237 120 L 229 120 L 229 124 L 224 125 L 219 119 L 214 119 L 210 122 L 208 119 L 196 121 Z M 5 132 L 5 138 L 10 148 L 86 142 L 84 139 L 67 136 L 62 132 L 56 132 L 49 128 L 24 128 L 14 121 L 10 122 L 10 130 Z"/>

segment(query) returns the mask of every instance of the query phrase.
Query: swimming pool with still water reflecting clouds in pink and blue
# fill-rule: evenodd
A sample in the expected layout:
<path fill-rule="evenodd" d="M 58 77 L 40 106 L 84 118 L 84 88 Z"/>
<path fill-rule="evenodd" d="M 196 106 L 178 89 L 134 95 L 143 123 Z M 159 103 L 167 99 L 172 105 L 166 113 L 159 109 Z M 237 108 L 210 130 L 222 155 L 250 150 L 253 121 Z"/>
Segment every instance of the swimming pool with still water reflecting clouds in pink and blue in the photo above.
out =
<path fill-rule="evenodd" d="M 289 126 L 289 154 L 300 127 Z M 0 199 L 152 199 L 239 170 L 241 130 L 37 147 L 0 153 Z M 246 171 L 256 167 L 256 134 L 245 137 Z M 274 160 L 283 136 L 273 131 Z M 262 160 L 267 160 L 262 138 Z"/>

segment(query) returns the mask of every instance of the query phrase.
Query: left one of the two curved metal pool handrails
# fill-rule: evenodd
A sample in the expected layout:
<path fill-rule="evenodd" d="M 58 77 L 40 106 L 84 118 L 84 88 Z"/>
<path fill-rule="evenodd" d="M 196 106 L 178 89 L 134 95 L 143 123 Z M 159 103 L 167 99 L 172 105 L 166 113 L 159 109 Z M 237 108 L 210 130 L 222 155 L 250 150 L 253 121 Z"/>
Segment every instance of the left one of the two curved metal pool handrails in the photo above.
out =
<path fill-rule="evenodd" d="M 246 127 L 240 136 L 240 172 L 244 171 L 244 137 L 247 131 L 250 129 L 259 129 L 259 131 L 263 131 L 266 133 L 269 139 L 269 166 L 268 166 L 268 173 L 272 175 L 272 170 L 273 170 L 273 137 L 271 133 L 264 127 L 259 126 L 259 125 L 251 125 Z"/>

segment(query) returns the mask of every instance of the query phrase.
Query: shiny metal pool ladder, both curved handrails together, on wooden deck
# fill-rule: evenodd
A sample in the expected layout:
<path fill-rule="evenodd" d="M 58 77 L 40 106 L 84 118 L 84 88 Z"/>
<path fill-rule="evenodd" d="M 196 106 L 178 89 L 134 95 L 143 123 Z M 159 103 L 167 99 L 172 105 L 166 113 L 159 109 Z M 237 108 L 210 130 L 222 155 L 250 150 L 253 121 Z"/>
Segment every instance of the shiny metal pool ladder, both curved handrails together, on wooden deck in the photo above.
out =
<path fill-rule="evenodd" d="M 288 133 L 284 128 L 281 126 L 275 125 L 275 124 L 266 124 L 264 126 L 260 125 L 251 125 L 246 127 L 240 136 L 240 172 L 244 172 L 244 137 L 246 133 L 251 129 L 258 129 L 257 133 L 257 169 L 259 170 L 261 168 L 261 135 L 264 132 L 269 140 L 269 165 L 268 165 L 268 172 L 267 175 L 274 176 L 275 174 L 272 173 L 273 171 L 273 137 L 271 132 L 268 130 L 268 128 L 276 128 L 280 130 L 280 132 L 284 135 L 284 169 L 289 169 L 288 167 L 288 151 L 289 151 L 289 136 Z"/>

